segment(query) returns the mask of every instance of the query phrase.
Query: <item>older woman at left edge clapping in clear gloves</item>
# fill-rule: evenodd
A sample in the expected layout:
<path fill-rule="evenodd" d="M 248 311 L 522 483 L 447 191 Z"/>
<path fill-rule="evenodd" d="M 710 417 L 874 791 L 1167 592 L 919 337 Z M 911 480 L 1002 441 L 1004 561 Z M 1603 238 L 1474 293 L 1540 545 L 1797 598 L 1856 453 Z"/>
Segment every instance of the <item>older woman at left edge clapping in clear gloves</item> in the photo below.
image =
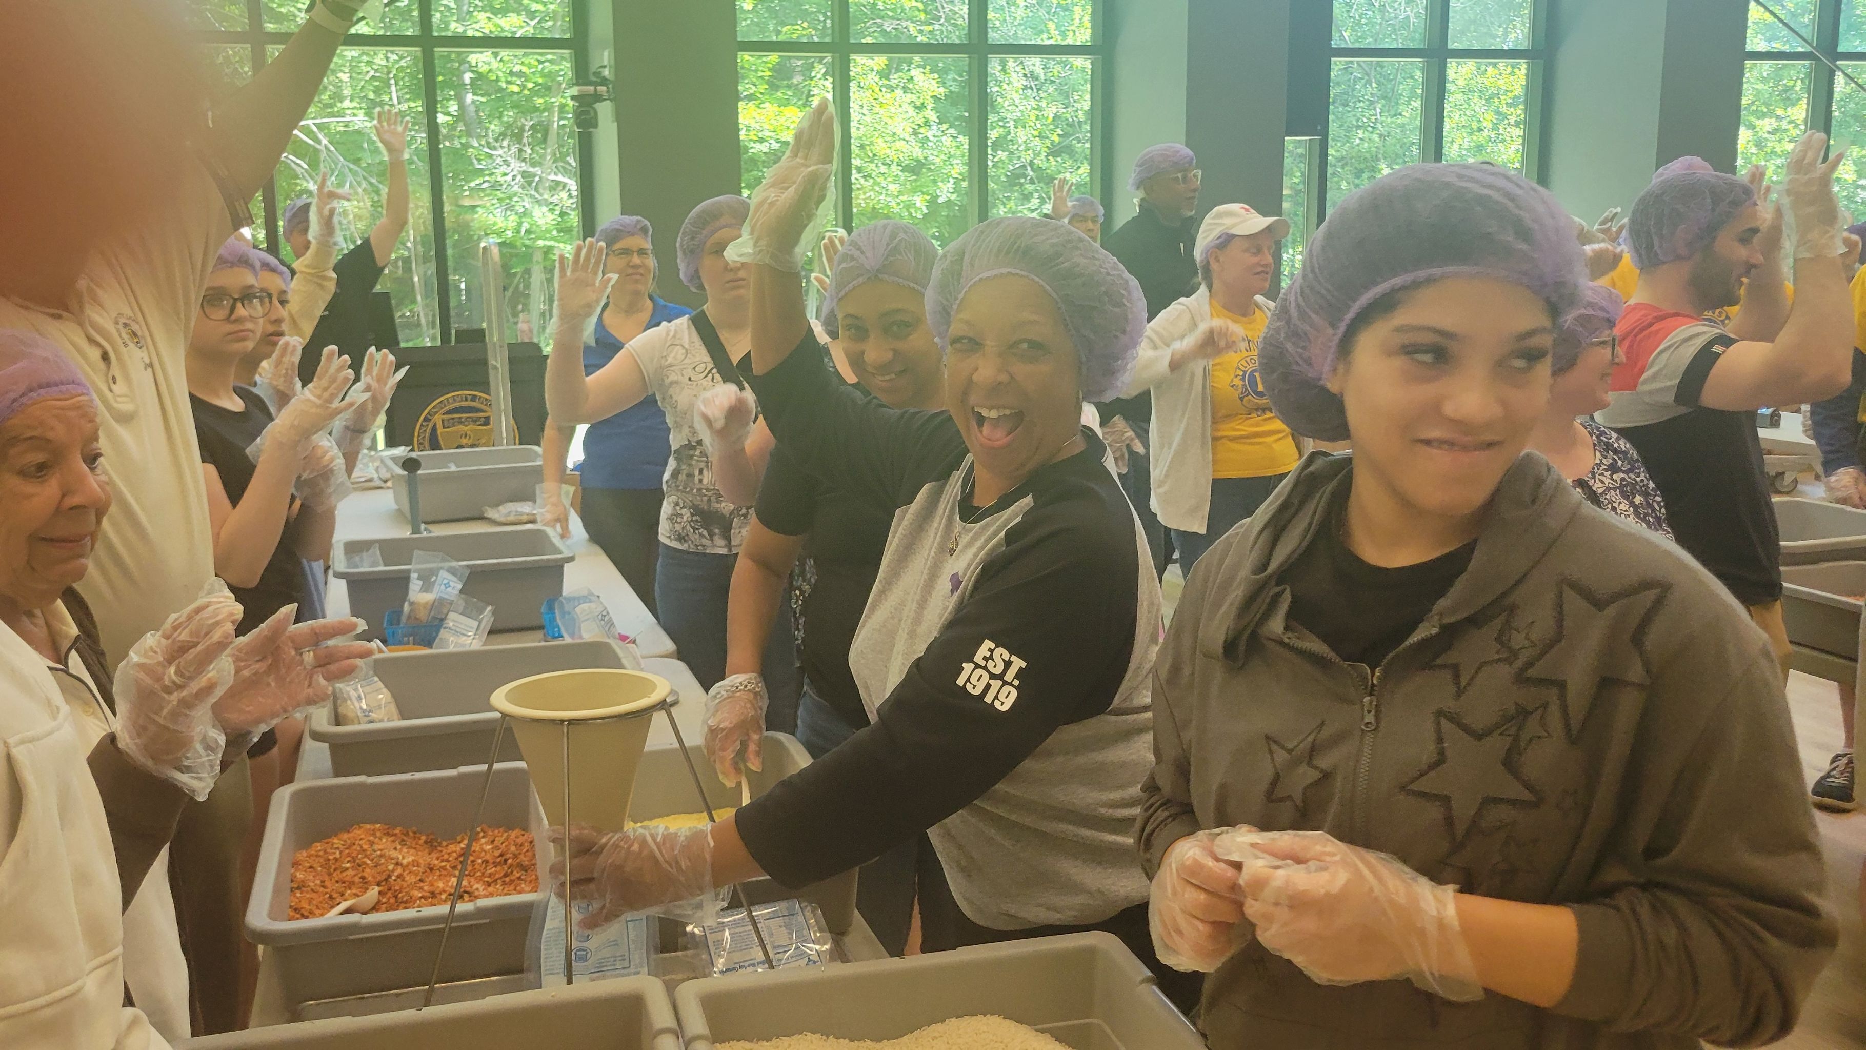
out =
<path fill-rule="evenodd" d="M 237 638 L 215 584 L 112 671 L 77 591 L 112 502 L 90 386 L 47 339 L 0 330 L 4 1046 L 160 1048 L 188 1035 L 190 972 L 222 981 L 196 994 L 239 992 L 231 959 L 183 959 L 164 850 L 254 733 L 369 655 L 319 647 L 349 621 Z"/>

